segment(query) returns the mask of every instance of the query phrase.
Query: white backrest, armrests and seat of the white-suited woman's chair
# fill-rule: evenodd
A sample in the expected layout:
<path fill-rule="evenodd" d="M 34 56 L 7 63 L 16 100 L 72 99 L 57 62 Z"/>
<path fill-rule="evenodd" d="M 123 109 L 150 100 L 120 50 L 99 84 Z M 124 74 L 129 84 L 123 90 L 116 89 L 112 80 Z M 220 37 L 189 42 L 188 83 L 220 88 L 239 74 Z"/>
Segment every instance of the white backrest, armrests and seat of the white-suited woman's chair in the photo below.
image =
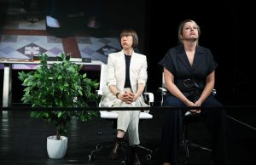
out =
<path fill-rule="evenodd" d="M 97 90 L 97 94 L 99 95 L 100 101 L 99 101 L 99 107 L 102 107 L 101 103 L 104 97 L 109 93 L 109 89 L 106 83 L 107 78 L 107 71 L 108 71 L 108 65 L 102 64 L 101 65 L 101 77 L 100 77 L 100 87 L 99 90 Z M 152 96 L 151 93 L 145 93 L 149 96 L 149 102 L 154 101 L 154 95 Z M 140 113 L 140 119 L 151 119 L 153 116 L 148 113 L 149 111 L 142 111 Z M 111 111 L 111 108 L 109 108 L 109 111 L 100 111 L 101 118 L 108 118 L 108 119 L 115 119 L 118 117 L 118 114 L 115 111 Z"/>

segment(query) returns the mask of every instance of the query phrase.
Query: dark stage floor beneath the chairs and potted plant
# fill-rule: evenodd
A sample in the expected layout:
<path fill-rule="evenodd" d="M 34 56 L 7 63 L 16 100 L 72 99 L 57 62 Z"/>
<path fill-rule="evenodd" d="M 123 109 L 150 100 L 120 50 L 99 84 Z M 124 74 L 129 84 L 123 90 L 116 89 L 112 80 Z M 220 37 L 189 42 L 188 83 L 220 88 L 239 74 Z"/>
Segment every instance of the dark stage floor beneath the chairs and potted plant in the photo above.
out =
<path fill-rule="evenodd" d="M 152 160 L 147 162 L 146 153 L 140 152 L 143 164 L 160 164 L 160 129 L 161 111 L 151 111 L 154 119 L 141 122 L 140 137 L 142 145 L 152 149 Z M 249 111 L 245 111 L 249 115 Z M 4 111 L 0 115 L 0 164 L 2 165 L 59 165 L 59 164 L 119 164 L 108 159 L 110 148 L 103 148 L 96 153 L 94 162 L 89 162 L 90 151 L 96 149 L 98 142 L 111 144 L 114 134 L 97 135 L 98 131 L 114 133 L 113 122 L 96 118 L 90 122 L 75 122 L 70 125 L 67 137 L 67 153 L 63 159 L 49 158 L 46 151 L 46 137 L 54 134 L 50 123 L 29 117 L 27 111 Z M 238 122 L 229 119 L 229 162 L 230 165 L 256 164 L 256 133 Z M 208 145 L 204 125 L 195 123 L 189 129 L 190 139 L 196 143 Z M 105 143 L 103 144 L 105 145 Z M 127 149 L 127 151 L 129 151 Z M 191 164 L 211 165 L 211 153 L 191 150 Z M 179 152 L 179 161 L 184 159 Z M 181 163 L 180 163 L 181 164 Z"/>

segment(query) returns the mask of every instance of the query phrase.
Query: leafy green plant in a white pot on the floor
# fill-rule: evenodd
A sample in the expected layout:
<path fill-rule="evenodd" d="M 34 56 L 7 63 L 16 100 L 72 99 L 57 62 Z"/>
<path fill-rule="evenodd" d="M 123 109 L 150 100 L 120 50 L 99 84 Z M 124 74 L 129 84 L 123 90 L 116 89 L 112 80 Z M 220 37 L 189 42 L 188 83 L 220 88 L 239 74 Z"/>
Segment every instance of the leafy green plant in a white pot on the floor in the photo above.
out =
<path fill-rule="evenodd" d="M 47 147 L 53 146 L 50 140 L 59 143 L 53 147 L 54 150 L 62 148 L 59 154 L 52 153 L 47 149 L 49 157 L 62 158 L 67 150 L 68 124 L 75 117 L 79 121 L 87 121 L 97 117 L 96 111 L 76 111 L 75 107 L 87 107 L 88 100 L 96 100 L 96 88 L 99 83 L 86 77 L 86 73 L 81 74 L 82 65 L 77 65 L 70 61 L 70 56 L 57 57 L 57 62 L 52 65 L 47 64 L 48 55 L 42 54 L 41 62 L 35 71 L 20 71 L 19 79 L 25 86 L 21 101 L 25 104 L 31 104 L 32 107 L 40 107 L 40 111 L 31 111 L 31 117 L 41 118 L 44 122 L 53 122 L 55 124 L 55 135 L 47 139 Z M 42 107 L 72 108 L 73 111 L 54 111 L 43 110 Z M 64 142 L 61 142 L 63 140 Z M 63 144 L 61 144 L 63 143 Z M 53 154 L 53 155 L 51 155 Z"/>

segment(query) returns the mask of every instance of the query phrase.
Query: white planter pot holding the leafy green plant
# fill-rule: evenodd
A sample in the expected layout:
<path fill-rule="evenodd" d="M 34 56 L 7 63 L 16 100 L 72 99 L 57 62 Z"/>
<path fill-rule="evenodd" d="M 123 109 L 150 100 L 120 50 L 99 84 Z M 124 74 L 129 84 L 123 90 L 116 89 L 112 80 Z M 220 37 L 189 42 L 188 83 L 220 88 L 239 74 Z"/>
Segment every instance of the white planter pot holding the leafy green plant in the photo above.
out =
<path fill-rule="evenodd" d="M 56 139 L 56 136 L 47 137 L 47 153 L 50 158 L 61 159 L 67 151 L 67 137 L 61 136 L 61 139 Z"/>

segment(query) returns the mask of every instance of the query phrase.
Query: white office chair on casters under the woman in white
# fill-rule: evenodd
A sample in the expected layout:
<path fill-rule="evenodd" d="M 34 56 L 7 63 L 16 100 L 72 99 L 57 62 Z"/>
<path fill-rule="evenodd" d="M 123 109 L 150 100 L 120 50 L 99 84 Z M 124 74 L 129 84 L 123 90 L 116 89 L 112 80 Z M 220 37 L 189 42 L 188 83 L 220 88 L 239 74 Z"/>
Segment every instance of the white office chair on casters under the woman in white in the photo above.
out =
<path fill-rule="evenodd" d="M 108 87 L 107 87 L 106 81 L 105 81 L 105 78 L 107 77 L 107 67 L 108 67 L 108 65 L 104 65 L 104 64 L 102 64 L 102 66 L 101 66 L 100 88 L 99 88 L 99 90 L 96 91 L 98 96 L 99 96 L 98 97 L 98 103 L 99 103 L 98 106 L 99 107 L 101 107 L 102 97 L 104 97 L 104 94 L 106 94 L 106 90 L 108 90 Z M 149 106 L 153 105 L 153 103 L 154 103 L 154 94 L 144 92 L 143 97 L 144 97 L 145 103 L 147 103 Z M 111 110 L 111 108 L 109 108 L 109 110 Z M 101 118 L 103 118 L 103 119 L 111 120 L 114 123 L 113 128 L 116 128 L 116 121 L 117 121 L 117 118 L 118 118 L 118 114 L 115 111 L 100 111 L 100 115 L 101 115 Z M 153 118 L 153 116 L 149 113 L 149 111 L 141 111 L 140 120 L 148 120 L 148 119 L 152 119 L 152 118 Z M 102 133 L 100 131 L 97 134 L 102 135 L 104 133 Z M 111 143 L 113 143 L 113 141 Z M 112 146 L 112 145 L 113 144 L 111 144 L 109 146 Z M 146 151 L 148 153 L 148 154 L 146 154 L 145 158 L 146 158 L 147 161 L 150 161 L 151 158 L 152 158 L 151 155 L 154 151 L 144 147 L 143 145 L 137 145 L 137 147 L 140 150 Z M 101 151 L 101 150 L 102 150 L 102 144 L 98 143 L 96 145 L 96 150 L 90 151 L 89 162 L 94 161 L 95 158 L 96 158 L 96 156 L 95 156 L 96 152 Z M 122 160 L 120 160 L 119 162 L 121 164 L 125 165 L 127 160 L 128 160 L 127 156 L 126 156 L 125 148 L 121 147 L 121 151 L 122 151 L 122 155 L 123 155 L 124 158 Z"/>

